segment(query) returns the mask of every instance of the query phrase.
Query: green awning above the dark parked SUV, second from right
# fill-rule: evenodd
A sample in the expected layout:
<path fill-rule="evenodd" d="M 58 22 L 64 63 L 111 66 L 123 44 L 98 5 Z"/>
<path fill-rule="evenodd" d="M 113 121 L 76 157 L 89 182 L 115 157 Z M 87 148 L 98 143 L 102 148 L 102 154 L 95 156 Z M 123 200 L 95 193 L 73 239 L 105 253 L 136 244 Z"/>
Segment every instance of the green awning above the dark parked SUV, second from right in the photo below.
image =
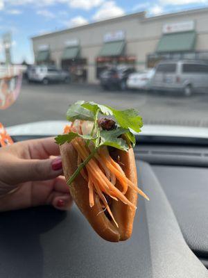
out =
<path fill-rule="evenodd" d="M 121 56 L 123 55 L 125 41 L 119 40 L 116 42 L 105 42 L 99 56 Z"/>

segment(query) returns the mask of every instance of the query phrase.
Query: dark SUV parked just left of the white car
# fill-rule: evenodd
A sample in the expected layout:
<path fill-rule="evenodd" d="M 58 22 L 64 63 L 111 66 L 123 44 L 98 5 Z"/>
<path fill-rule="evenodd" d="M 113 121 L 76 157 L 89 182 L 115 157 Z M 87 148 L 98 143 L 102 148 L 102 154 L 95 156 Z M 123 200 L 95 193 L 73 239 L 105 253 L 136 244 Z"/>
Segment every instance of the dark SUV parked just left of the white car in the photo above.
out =
<path fill-rule="evenodd" d="M 125 90 L 126 81 L 132 72 L 135 72 L 135 69 L 132 67 L 114 67 L 110 70 L 105 70 L 100 76 L 101 86 L 105 90 L 114 88 Z"/>

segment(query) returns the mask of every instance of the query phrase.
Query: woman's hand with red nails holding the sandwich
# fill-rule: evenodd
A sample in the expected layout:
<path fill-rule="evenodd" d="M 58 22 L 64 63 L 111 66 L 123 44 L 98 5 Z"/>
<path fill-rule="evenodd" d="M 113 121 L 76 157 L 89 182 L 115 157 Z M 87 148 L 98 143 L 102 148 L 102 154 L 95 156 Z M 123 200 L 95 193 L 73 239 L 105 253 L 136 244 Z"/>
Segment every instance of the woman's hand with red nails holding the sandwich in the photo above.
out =
<path fill-rule="evenodd" d="M 72 199 L 59 155 L 53 138 L 0 148 L 0 211 L 44 204 L 69 208 Z"/>

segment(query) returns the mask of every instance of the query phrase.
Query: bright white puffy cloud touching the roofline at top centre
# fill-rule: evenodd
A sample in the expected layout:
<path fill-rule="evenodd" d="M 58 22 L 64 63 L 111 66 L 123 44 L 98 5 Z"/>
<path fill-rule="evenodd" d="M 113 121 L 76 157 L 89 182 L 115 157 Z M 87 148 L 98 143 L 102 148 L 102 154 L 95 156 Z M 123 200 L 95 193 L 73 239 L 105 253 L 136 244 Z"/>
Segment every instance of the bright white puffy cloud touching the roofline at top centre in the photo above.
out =
<path fill-rule="evenodd" d="M 99 21 L 121 15 L 124 15 L 124 10 L 117 6 L 115 1 L 107 1 L 101 5 L 92 18 Z"/>

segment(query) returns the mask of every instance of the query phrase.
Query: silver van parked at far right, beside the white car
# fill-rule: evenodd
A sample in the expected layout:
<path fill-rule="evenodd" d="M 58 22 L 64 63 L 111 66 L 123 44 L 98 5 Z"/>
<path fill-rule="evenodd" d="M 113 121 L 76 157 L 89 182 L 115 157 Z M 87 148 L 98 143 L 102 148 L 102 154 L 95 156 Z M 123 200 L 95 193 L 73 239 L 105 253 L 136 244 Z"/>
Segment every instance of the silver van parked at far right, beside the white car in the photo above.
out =
<path fill-rule="evenodd" d="M 208 63 L 200 60 L 164 61 L 157 65 L 151 90 L 208 92 Z"/>

